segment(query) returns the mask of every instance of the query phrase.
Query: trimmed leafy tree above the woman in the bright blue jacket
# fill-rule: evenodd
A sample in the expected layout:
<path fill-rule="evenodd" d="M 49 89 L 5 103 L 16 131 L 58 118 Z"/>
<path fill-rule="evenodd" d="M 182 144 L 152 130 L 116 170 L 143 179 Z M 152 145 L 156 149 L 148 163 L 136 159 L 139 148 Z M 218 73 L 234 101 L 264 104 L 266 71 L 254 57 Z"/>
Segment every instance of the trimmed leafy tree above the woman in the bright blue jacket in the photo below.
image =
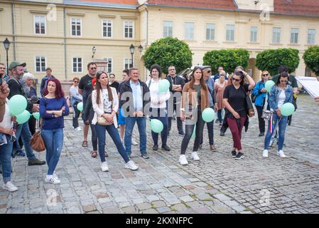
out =
<path fill-rule="evenodd" d="M 269 71 L 271 76 L 278 74 L 281 65 L 288 66 L 289 72 L 293 72 L 299 65 L 299 51 L 293 48 L 278 48 L 261 51 L 256 57 L 256 67 L 260 71 Z"/>

